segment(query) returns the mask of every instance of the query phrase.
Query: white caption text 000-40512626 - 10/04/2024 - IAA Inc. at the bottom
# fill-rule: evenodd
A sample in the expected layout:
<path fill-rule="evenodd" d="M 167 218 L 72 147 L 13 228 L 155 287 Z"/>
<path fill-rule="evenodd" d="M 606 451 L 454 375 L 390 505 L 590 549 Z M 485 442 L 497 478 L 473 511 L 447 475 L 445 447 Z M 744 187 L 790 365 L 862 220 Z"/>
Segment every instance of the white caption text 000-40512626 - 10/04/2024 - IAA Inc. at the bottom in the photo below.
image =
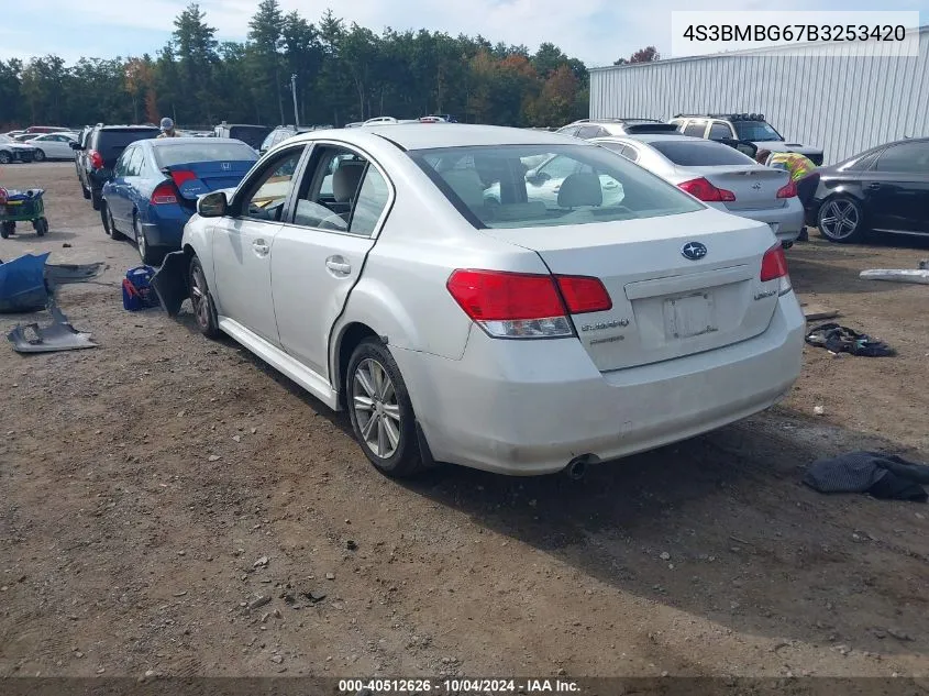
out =
<path fill-rule="evenodd" d="M 538 680 L 340 680 L 342 694 L 576 694 L 577 682 Z"/>

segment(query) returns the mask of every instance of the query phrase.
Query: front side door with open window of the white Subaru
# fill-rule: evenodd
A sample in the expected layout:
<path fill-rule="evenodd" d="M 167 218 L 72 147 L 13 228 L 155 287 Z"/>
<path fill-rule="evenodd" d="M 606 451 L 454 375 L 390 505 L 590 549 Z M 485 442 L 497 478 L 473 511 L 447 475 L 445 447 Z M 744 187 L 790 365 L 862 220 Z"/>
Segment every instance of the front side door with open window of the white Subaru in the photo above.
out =
<path fill-rule="evenodd" d="M 278 153 L 233 196 L 233 214 L 212 231 L 214 300 L 220 320 L 231 319 L 280 345 L 270 289 L 274 245 L 305 145 Z"/>

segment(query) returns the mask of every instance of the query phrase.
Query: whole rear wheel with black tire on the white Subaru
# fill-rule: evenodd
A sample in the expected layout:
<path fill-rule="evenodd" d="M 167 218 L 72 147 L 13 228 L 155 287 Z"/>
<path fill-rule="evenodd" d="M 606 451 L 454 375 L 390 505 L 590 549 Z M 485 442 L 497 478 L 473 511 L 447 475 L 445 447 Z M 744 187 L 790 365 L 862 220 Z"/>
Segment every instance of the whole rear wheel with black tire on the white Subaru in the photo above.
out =
<path fill-rule="evenodd" d="M 396 478 L 425 468 L 407 385 L 390 351 L 379 340 L 365 339 L 352 353 L 345 398 L 352 430 L 375 468 Z"/>

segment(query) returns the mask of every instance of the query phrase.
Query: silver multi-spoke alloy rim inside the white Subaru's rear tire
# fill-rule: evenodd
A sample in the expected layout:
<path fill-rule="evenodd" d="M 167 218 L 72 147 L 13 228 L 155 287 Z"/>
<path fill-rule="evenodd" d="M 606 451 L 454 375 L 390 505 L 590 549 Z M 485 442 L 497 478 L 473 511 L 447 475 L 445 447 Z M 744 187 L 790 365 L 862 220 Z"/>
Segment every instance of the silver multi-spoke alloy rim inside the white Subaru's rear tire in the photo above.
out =
<path fill-rule="evenodd" d="M 378 361 L 367 357 L 352 376 L 352 408 L 362 440 L 372 453 L 389 459 L 400 445 L 400 405 L 394 383 Z"/>

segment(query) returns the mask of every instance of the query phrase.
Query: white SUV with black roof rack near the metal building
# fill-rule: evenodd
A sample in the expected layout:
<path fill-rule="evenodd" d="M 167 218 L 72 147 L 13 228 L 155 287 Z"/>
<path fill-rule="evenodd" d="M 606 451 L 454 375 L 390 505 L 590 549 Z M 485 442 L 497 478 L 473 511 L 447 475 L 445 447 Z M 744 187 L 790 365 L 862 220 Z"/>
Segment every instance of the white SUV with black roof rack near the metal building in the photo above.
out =
<path fill-rule="evenodd" d="M 717 141 L 744 141 L 771 152 L 798 152 L 817 166 L 822 164 L 821 147 L 788 143 L 765 121 L 763 113 L 678 113 L 671 119 L 671 123 L 685 135 Z"/>

